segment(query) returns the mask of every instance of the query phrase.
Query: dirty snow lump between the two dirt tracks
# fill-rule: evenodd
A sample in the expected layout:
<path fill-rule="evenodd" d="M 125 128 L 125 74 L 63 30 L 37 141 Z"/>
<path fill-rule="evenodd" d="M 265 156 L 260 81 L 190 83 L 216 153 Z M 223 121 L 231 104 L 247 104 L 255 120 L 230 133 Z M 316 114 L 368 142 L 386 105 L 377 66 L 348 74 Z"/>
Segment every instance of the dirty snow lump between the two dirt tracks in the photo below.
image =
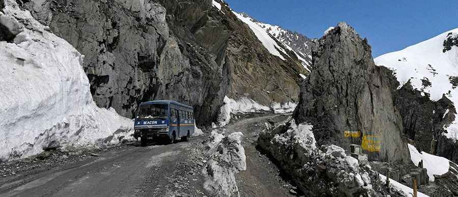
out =
<path fill-rule="evenodd" d="M 206 177 L 204 188 L 214 196 L 240 196 L 235 175 L 246 170 L 242 137 L 241 132 L 224 137 L 212 131 L 207 144 L 210 157 L 202 173 Z"/>

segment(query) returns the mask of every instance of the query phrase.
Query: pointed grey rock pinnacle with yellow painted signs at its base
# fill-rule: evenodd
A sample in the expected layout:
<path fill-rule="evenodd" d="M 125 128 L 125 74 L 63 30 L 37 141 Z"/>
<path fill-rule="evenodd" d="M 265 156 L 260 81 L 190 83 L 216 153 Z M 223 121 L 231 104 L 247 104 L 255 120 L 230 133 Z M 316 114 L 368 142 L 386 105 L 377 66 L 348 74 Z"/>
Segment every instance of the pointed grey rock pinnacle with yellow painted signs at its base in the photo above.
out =
<path fill-rule="evenodd" d="M 296 122 L 311 123 L 321 145 L 350 151 L 350 144 L 361 144 L 371 160 L 409 158 L 402 119 L 367 40 L 339 23 L 318 41 L 312 56 L 314 70 L 302 83 Z"/>

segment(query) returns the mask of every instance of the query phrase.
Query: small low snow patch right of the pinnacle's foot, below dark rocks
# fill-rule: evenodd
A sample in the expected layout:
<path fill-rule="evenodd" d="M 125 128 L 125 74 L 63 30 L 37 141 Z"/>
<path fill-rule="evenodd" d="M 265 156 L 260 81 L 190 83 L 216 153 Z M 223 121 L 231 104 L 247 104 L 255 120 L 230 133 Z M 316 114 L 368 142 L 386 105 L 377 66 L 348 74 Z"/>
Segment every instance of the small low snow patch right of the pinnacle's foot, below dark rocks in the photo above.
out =
<path fill-rule="evenodd" d="M 431 155 L 425 152 L 419 153 L 417 148 L 408 144 L 410 151 L 410 159 L 418 166 L 418 163 L 423 160 L 423 167 L 426 168 L 430 181 L 434 181 L 434 175 L 443 175 L 450 168 L 450 161 L 444 157 Z"/>

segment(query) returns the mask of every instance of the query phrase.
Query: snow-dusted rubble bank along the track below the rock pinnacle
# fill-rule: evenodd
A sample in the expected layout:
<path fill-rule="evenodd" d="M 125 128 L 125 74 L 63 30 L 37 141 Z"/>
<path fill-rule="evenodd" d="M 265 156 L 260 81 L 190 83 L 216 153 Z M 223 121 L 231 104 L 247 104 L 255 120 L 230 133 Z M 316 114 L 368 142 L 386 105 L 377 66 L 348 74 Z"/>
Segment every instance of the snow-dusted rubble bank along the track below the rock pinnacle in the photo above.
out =
<path fill-rule="evenodd" d="M 307 124 L 295 121 L 267 127 L 258 145 L 291 177 L 306 196 L 405 196 L 387 188 L 370 166 L 359 164 L 345 150 L 335 146 L 316 146 Z"/>

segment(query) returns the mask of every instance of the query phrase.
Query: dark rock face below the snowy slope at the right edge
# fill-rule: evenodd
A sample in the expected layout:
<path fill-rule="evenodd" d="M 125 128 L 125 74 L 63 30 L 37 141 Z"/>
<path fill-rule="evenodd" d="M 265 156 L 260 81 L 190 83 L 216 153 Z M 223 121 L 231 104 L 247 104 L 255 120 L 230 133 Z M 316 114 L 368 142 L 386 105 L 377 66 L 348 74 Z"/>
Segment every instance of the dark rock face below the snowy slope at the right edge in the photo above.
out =
<path fill-rule="evenodd" d="M 445 96 L 432 101 L 430 95 L 414 89 L 410 82 L 398 88 L 399 82 L 393 72 L 383 66 L 380 68 L 391 86 L 394 105 L 403 120 L 404 134 L 421 151 L 443 156 L 445 153 L 439 154 L 436 151 L 439 149 L 437 143 L 443 142 L 441 136 L 445 126 L 455 119 L 453 103 Z M 447 110 L 449 112 L 445 113 Z"/>

